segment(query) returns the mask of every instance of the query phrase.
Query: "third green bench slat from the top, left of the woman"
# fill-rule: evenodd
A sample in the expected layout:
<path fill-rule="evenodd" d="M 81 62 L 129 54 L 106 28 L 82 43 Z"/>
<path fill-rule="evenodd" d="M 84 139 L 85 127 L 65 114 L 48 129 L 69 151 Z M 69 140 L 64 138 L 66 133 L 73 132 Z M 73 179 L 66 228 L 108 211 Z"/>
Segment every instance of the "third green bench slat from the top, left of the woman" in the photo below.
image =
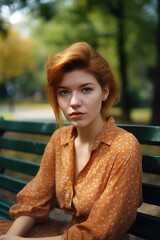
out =
<path fill-rule="evenodd" d="M 5 168 L 34 176 L 39 169 L 39 164 L 20 160 L 18 158 L 0 156 L 0 169 Z"/>

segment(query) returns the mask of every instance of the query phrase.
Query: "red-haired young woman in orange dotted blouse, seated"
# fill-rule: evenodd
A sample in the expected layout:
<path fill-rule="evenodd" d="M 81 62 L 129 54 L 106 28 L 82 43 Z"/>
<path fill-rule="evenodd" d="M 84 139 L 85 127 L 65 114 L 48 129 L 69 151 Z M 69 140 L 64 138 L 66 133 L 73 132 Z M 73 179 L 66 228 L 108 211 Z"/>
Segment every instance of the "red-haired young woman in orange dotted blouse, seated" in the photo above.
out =
<path fill-rule="evenodd" d="M 118 97 L 111 69 L 79 42 L 52 56 L 46 72 L 56 120 L 62 125 L 65 116 L 71 125 L 52 135 L 0 240 L 124 240 L 141 204 L 141 151 L 136 138 L 107 116 Z M 69 225 L 48 220 L 56 202 L 72 215 Z"/>

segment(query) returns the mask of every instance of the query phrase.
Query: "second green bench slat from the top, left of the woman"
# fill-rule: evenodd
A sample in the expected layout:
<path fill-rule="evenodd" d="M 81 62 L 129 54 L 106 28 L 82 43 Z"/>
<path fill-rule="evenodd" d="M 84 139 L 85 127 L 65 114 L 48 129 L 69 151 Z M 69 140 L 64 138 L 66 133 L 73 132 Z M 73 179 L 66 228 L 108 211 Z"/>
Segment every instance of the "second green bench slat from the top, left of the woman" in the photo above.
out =
<path fill-rule="evenodd" d="M 1 148 L 42 155 L 46 143 L 0 137 Z"/>

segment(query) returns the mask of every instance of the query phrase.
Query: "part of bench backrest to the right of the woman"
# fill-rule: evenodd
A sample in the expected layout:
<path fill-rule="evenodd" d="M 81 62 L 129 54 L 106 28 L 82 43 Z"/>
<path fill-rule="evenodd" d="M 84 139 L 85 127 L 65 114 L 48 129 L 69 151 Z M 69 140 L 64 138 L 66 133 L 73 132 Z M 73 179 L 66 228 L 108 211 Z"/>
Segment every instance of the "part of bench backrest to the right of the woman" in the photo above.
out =
<path fill-rule="evenodd" d="M 160 239 L 160 126 L 120 125 L 134 134 L 143 149 L 143 202 L 131 233 L 145 239 Z M 147 152 L 147 153 L 145 153 Z M 142 209 L 142 210 L 141 210 Z M 154 212 L 154 213 L 153 213 Z"/>

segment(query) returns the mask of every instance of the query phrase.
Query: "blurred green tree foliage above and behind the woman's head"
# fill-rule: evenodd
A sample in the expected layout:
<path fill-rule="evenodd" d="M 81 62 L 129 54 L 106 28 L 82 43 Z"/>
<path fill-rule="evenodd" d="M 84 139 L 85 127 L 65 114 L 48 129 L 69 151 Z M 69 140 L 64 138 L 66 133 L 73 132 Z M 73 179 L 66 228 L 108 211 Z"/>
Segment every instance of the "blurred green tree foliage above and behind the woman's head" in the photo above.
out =
<path fill-rule="evenodd" d="M 109 61 L 128 116 L 132 107 L 157 102 L 153 96 L 159 81 L 154 81 L 153 72 L 155 66 L 159 67 L 156 57 L 159 0 L 18 0 L 16 4 L 2 0 L 0 8 L 4 2 L 11 11 L 25 8 L 31 16 L 37 69 L 31 76 L 32 85 L 37 87 L 41 83 L 42 87 L 45 82 L 44 63 L 49 55 L 73 42 L 87 41 Z M 6 33 L 5 27 L 0 21 L 1 32 Z"/>

